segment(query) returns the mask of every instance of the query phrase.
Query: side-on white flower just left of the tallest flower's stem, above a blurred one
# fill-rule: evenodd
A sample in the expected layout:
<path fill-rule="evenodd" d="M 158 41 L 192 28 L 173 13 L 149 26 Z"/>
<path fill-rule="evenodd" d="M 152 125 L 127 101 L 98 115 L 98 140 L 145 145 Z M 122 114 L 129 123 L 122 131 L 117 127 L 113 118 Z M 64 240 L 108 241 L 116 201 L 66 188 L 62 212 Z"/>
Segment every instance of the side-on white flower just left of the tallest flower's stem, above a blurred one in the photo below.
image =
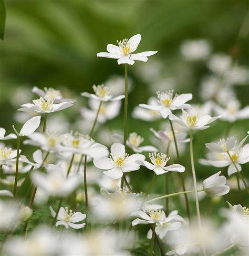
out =
<path fill-rule="evenodd" d="M 95 94 L 84 92 L 81 93 L 81 96 L 85 96 L 96 101 L 120 101 L 124 98 L 124 95 L 112 97 L 111 88 L 103 84 L 94 85 L 92 88 L 94 89 Z"/>

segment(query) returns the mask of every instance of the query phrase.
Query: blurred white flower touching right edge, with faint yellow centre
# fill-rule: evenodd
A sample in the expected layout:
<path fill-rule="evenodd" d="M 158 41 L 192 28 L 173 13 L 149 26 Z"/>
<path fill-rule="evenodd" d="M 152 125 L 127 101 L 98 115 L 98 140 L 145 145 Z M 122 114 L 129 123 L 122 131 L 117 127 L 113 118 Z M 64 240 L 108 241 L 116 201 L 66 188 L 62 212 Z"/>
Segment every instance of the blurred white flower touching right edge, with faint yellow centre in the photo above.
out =
<path fill-rule="evenodd" d="M 221 120 L 228 121 L 230 123 L 236 120 L 248 119 L 249 106 L 240 109 L 241 103 L 237 100 L 231 100 L 227 102 L 225 109 L 219 105 L 214 105 L 214 112 L 217 115 L 221 115 Z"/>

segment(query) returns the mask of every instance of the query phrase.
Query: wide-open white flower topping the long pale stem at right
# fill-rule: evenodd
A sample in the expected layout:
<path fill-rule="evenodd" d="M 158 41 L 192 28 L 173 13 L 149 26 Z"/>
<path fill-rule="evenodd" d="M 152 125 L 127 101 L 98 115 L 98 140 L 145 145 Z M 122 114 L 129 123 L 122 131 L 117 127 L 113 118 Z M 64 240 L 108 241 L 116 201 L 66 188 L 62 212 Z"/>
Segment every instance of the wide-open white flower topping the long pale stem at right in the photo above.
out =
<path fill-rule="evenodd" d="M 210 115 L 196 116 L 189 115 L 186 111 L 182 110 L 181 118 L 171 114 L 169 116 L 170 120 L 181 124 L 182 126 L 192 129 L 192 130 L 204 130 L 209 128 L 209 125 L 221 116 L 211 117 Z"/>

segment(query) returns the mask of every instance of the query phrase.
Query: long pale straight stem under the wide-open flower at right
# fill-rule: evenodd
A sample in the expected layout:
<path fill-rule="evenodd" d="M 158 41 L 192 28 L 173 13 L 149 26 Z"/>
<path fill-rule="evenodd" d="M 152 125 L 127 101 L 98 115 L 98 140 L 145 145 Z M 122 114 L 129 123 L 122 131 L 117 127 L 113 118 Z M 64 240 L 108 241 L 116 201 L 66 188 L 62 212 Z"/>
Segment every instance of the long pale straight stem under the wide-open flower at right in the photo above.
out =
<path fill-rule="evenodd" d="M 192 129 L 190 129 L 190 159 L 191 159 L 191 168 L 192 168 L 193 182 L 194 182 L 194 194 L 195 194 L 195 205 L 196 205 L 196 213 L 197 213 L 197 219 L 198 219 L 198 227 L 201 231 L 201 214 L 200 214 L 200 206 L 199 206 L 199 199 L 198 199 L 196 175 L 195 175 L 195 169 L 194 169 L 193 130 Z M 201 244 L 201 247 L 202 247 L 202 253 L 205 256 L 206 250 L 203 243 Z"/>

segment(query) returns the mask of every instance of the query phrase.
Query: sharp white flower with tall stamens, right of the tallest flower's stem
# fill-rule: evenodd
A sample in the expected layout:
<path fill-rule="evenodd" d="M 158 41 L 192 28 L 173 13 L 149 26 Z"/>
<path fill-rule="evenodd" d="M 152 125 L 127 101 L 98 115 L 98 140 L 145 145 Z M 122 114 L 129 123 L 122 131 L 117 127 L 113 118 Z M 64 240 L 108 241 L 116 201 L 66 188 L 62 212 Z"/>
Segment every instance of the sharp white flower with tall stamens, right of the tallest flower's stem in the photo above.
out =
<path fill-rule="evenodd" d="M 192 93 L 175 94 L 174 90 L 167 92 L 157 92 L 158 95 L 158 105 L 147 105 L 139 104 L 139 106 L 144 107 L 149 110 L 157 110 L 161 113 L 162 117 L 165 119 L 173 110 L 183 110 L 190 109 L 190 104 L 185 104 L 187 101 L 192 100 Z"/>

